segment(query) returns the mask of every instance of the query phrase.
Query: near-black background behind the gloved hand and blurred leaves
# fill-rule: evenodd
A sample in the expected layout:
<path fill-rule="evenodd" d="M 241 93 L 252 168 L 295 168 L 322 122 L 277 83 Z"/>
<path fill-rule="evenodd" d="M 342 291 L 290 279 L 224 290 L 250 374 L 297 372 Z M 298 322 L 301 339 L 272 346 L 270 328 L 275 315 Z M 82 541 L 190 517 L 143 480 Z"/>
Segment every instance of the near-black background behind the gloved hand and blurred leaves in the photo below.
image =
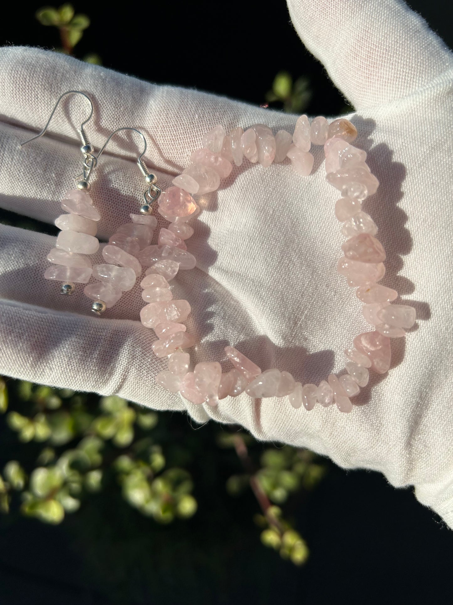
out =
<path fill-rule="evenodd" d="M 451 47 L 451 3 L 410 4 Z M 275 74 L 288 70 L 310 79 L 307 113 L 334 115 L 344 107 L 323 67 L 304 50 L 283 0 L 273 2 L 272 11 L 251 0 L 74 5 L 91 18 L 77 56 L 96 52 L 106 67 L 257 105 Z M 1 43 L 58 46 L 57 31 L 34 19 L 40 6 L 8 4 Z M 247 53 L 241 48 L 242 28 L 251 23 L 257 48 Z M 275 40 L 274 50 L 263 57 L 262 33 Z M 172 422 L 175 430 L 190 430 L 182 416 Z M 199 456 L 209 457 L 210 440 L 215 448 L 211 433 L 218 428 L 201 430 L 208 449 Z M 11 453 L 1 457 L 10 459 Z M 1 518 L 0 603 L 451 602 L 453 534 L 417 503 L 411 489 L 395 490 L 377 473 L 345 473 L 330 465 L 307 502 L 292 505 L 295 526 L 311 552 L 300 569 L 260 545 L 251 494 L 226 495 L 234 464 L 224 456 L 211 466 L 199 465 L 194 471 L 199 512 L 171 526 L 156 526 L 119 495 L 103 494 L 57 527 L 18 515 Z"/>

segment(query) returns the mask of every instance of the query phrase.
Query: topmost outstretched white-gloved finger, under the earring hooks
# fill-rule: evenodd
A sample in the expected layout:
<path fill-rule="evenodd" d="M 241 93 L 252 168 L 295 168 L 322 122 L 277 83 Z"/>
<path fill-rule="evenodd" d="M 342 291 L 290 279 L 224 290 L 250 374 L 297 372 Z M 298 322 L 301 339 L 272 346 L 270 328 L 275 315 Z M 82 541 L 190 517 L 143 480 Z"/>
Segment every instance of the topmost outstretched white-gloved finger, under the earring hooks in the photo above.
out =
<path fill-rule="evenodd" d="M 43 128 L 56 100 L 67 90 L 83 91 L 94 103 L 94 117 L 86 125 L 86 132 L 95 149 L 114 129 L 133 126 L 147 137 L 149 165 L 172 174 L 187 165 L 188 154 L 201 146 L 201 137 L 219 122 L 227 129 L 259 122 L 278 129 L 294 123 L 278 111 L 143 82 L 60 53 L 24 47 L 0 49 L 0 114 L 4 121 L 27 128 L 27 139 Z M 71 140 L 78 148 L 76 128 L 88 113 L 83 97 L 67 97 L 54 114 L 48 132 Z M 24 149 L 30 145 L 40 148 L 42 140 Z M 137 157 L 137 148 L 141 150 L 140 139 L 128 133 L 115 136 L 108 151 L 132 158 Z M 74 157 L 82 156 L 74 149 Z"/>

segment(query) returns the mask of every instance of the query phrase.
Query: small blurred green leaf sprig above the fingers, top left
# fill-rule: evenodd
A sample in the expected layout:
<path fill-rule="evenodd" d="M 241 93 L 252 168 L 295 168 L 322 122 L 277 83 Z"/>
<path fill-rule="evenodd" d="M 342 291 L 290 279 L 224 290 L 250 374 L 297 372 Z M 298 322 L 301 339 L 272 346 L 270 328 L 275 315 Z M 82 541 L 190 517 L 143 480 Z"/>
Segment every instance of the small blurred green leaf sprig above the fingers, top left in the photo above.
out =
<path fill-rule="evenodd" d="M 90 20 L 82 13 L 76 15 L 72 4 L 63 4 L 59 8 L 45 6 L 36 11 L 36 19 L 41 25 L 56 27 L 60 34 L 61 48 L 57 51 L 65 54 L 74 54 L 74 48 L 80 42 L 83 32 L 88 29 Z M 87 63 L 101 64 L 101 58 L 96 53 L 89 53 L 83 57 Z"/>

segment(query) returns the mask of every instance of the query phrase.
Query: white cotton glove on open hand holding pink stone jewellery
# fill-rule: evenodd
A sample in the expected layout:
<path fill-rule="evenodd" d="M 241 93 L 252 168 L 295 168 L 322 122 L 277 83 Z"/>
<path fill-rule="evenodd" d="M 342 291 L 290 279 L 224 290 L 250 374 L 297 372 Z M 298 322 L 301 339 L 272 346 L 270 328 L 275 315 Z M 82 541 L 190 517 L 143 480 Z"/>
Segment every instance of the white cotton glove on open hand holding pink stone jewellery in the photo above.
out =
<path fill-rule="evenodd" d="M 415 485 L 420 502 L 453 526 L 452 55 L 396 0 L 291 0 L 289 11 L 356 107 L 349 116 L 356 145 L 381 182 L 364 209 L 387 251 L 382 283 L 417 309 L 416 329 L 392 341 L 388 374 L 371 373 L 350 414 L 335 406 L 294 410 L 286 397 L 253 401 L 244 393 L 216 408 L 190 404 L 155 385 L 166 360 L 155 358 L 155 336 L 139 320 L 140 280 L 104 316 L 93 316 L 83 286 L 69 298 L 43 279 L 54 238 L 7 226 L 0 227 L 0 373 L 187 410 L 198 422 L 236 422 L 258 439 L 306 446 L 344 468 L 382 471 L 395 486 Z M 147 163 L 163 189 L 217 123 L 292 132 L 297 119 L 33 48 L 2 48 L 0 61 L 1 206 L 47 223 L 80 172 L 75 128 L 86 116 L 83 100 L 63 104 L 48 135 L 18 145 L 42 128 L 66 90 L 94 100 L 87 132 L 95 149 L 120 126 L 146 134 Z M 141 203 L 140 146 L 115 137 L 92 179 L 104 240 Z M 263 370 L 318 384 L 342 370 L 353 338 L 373 329 L 336 272 L 344 241 L 333 214 L 338 195 L 326 183 L 323 149 L 313 152 L 310 177 L 288 161 L 267 169 L 245 161 L 205 196 L 188 240 L 198 265 L 172 282 L 175 298 L 193 309 L 188 331 L 201 341 L 193 362 L 225 361 L 231 344 Z M 159 227 L 167 224 L 158 218 Z"/>

